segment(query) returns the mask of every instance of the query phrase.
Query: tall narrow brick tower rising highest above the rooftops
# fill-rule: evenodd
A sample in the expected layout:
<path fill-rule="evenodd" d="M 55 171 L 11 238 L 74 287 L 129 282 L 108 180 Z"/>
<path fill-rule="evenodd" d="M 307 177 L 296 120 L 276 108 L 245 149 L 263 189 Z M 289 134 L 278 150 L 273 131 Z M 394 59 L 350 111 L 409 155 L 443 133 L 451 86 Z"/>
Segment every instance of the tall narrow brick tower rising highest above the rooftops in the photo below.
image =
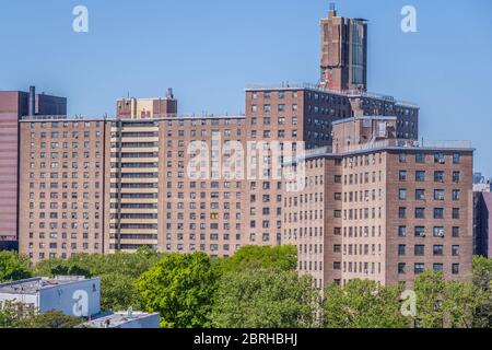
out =
<path fill-rule="evenodd" d="M 328 18 L 321 20 L 320 86 L 367 89 L 367 21 L 338 16 L 333 3 Z"/>

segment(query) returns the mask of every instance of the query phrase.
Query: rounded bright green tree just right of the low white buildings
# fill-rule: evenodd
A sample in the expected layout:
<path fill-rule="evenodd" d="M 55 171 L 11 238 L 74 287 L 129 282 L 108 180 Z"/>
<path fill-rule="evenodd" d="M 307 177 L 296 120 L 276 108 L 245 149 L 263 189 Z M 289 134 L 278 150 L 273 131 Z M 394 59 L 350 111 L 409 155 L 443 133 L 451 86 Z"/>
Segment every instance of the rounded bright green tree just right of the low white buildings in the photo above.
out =
<path fill-rule="evenodd" d="M 203 253 L 171 254 L 144 272 L 136 288 L 143 308 L 161 314 L 162 327 L 209 327 L 218 277 Z"/>

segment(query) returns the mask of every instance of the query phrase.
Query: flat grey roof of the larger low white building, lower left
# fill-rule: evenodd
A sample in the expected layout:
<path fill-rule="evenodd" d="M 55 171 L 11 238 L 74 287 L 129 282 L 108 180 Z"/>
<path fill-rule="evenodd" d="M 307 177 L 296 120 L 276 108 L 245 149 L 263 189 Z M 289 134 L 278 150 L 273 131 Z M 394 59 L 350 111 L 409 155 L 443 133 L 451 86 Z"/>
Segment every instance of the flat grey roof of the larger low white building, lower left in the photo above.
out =
<path fill-rule="evenodd" d="M 36 294 L 42 289 L 89 280 L 94 279 L 86 279 L 83 276 L 58 276 L 56 278 L 36 277 L 14 282 L 0 283 L 0 294 Z"/>

